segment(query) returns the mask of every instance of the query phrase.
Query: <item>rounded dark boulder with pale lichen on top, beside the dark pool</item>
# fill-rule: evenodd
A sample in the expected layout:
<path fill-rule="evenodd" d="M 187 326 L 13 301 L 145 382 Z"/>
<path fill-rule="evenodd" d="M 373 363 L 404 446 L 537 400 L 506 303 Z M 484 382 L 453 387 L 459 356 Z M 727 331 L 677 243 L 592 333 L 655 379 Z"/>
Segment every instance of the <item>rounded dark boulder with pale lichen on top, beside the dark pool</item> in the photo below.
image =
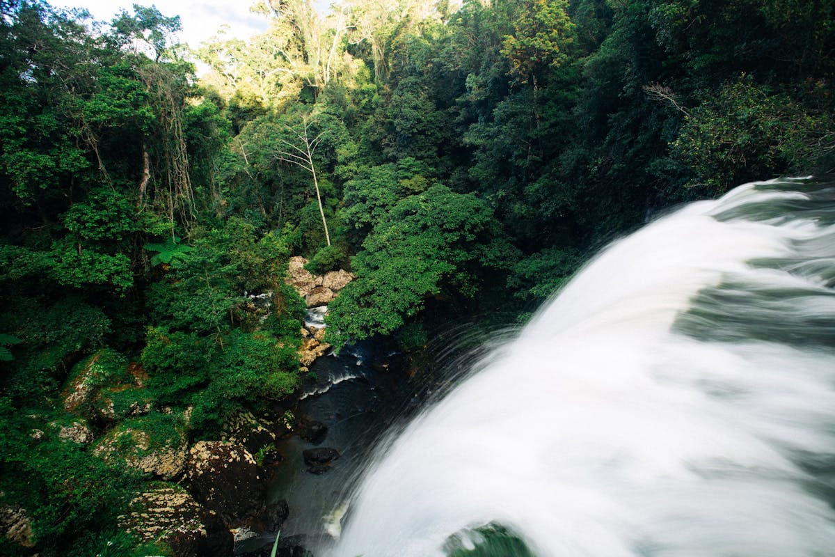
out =
<path fill-rule="evenodd" d="M 240 443 L 200 441 L 189 452 L 192 493 L 228 528 L 239 527 L 264 509 L 265 481 L 256 459 Z"/>

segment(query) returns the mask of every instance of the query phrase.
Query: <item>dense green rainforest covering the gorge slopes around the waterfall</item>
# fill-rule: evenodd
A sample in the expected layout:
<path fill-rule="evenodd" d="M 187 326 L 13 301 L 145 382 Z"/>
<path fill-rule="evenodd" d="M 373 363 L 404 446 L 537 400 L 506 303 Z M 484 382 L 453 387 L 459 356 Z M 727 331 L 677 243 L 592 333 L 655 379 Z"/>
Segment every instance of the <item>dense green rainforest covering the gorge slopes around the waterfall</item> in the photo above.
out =
<path fill-rule="evenodd" d="M 356 274 L 337 347 L 419 349 L 656 210 L 835 168 L 832 0 L 337 5 L 189 53 L 156 8 L 0 3 L 0 506 L 34 544 L 0 553 L 139 550 L 116 517 L 148 478 L 62 426 L 210 438 L 293 392 L 290 256 Z"/>

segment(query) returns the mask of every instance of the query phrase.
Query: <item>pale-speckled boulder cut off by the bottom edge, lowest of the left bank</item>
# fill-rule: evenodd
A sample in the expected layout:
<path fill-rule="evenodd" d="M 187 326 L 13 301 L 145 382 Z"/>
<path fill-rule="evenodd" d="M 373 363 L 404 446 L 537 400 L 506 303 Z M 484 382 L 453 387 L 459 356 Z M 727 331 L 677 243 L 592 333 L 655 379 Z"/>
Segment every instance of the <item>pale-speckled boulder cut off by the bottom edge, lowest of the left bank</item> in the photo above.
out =
<path fill-rule="evenodd" d="M 232 553 L 228 530 L 211 528 L 215 517 L 185 489 L 174 484 L 158 484 L 133 499 L 128 514 L 119 517 L 119 525 L 145 542 L 164 544 L 176 557 Z"/>

